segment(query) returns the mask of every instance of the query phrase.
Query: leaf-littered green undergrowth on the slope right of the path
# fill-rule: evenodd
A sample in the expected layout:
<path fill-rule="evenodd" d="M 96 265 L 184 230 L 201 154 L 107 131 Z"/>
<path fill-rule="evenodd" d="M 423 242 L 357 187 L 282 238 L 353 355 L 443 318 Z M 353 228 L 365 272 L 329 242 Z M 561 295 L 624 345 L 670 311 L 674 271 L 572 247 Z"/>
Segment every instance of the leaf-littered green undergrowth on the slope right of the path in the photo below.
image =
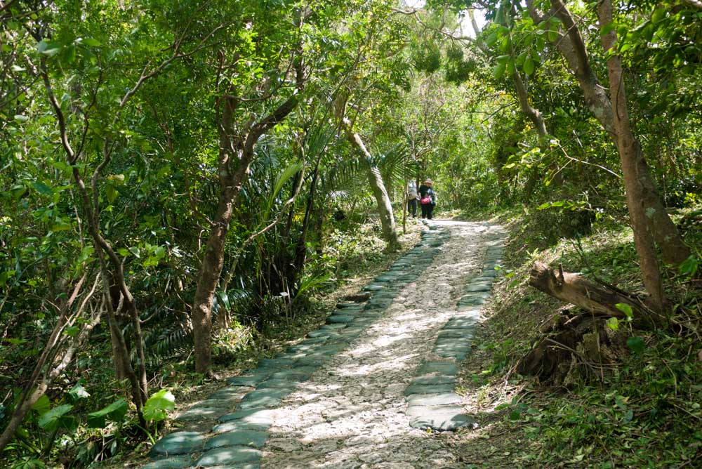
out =
<path fill-rule="evenodd" d="M 567 214 L 566 214 L 567 216 Z M 551 215 L 550 217 L 554 217 Z M 596 378 L 553 388 L 516 373 L 518 360 L 543 336 L 540 327 L 564 308 L 528 285 L 534 261 L 562 264 L 630 293 L 642 294 L 631 230 L 600 220 L 587 235 L 552 239 L 543 218 L 503 214 L 510 229 L 503 279 L 486 308 L 462 382 L 486 429 L 462 436 L 464 451 L 497 447 L 468 467 L 700 467 L 702 460 L 701 283 L 690 270 L 663 277 L 673 321 L 669 329 L 623 333 L 642 346 L 626 350 Z M 551 225 L 552 226 L 552 225 Z M 685 233 L 700 246 L 699 227 Z M 696 258 L 700 253 L 696 252 Z M 477 446 L 482 445 L 482 446 Z M 492 456 L 490 456 L 492 454 Z"/>

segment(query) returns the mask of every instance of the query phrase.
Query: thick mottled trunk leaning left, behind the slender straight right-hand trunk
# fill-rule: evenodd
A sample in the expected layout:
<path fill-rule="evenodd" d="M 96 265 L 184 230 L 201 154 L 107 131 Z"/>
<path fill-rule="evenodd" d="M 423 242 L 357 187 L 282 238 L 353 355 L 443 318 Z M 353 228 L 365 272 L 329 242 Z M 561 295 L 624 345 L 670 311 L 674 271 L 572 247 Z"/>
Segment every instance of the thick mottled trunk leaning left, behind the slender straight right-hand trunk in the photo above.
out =
<path fill-rule="evenodd" d="M 538 15 L 531 0 L 529 0 L 528 6 L 529 13 L 534 22 L 541 22 L 543 18 Z M 611 4 L 609 4 L 609 11 L 609 22 L 607 22 L 606 18 L 602 18 L 602 15 L 600 15 L 600 28 L 611 22 Z M 617 110 L 620 115 L 617 116 L 615 110 L 613 110 L 612 102 L 607 96 L 607 90 L 600 86 L 600 81 L 597 79 L 597 75 L 595 75 L 595 72 L 590 66 L 590 58 L 588 57 L 585 43 L 580 34 L 580 29 L 578 29 L 578 25 L 576 24 L 567 6 L 563 4 L 562 0 L 552 0 L 550 13 L 562 21 L 563 27 L 567 31 L 567 34 L 559 34 L 559 38 L 557 39 L 555 46 L 567 60 L 569 67 L 576 77 L 578 84 L 585 95 L 585 103 L 590 108 L 592 114 L 595 115 L 595 118 L 600 121 L 602 128 L 604 128 L 604 130 L 609 133 L 612 140 L 614 140 L 614 143 L 616 144 L 620 153 L 620 159 L 620 145 L 622 144 L 627 145 L 627 151 L 630 152 L 635 159 L 637 159 L 635 164 L 635 178 L 637 179 L 637 185 L 642 186 L 642 190 L 640 191 L 640 196 L 642 198 L 639 199 L 639 203 L 644 206 L 644 211 L 646 213 L 643 221 L 647 225 L 651 235 L 654 237 L 656 244 L 658 244 L 660 247 L 663 260 L 666 263 L 675 265 L 682 263 L 682 261 L 689 257 L 690 249 L 686 244 L 684 244 L 682 237 L 680 236 L 680 232 L 678 232 L 677 227 L 675 227 L 673 220 L 670 220 L 668 211 L 665 210 L 663 202 L 661 202 L 661 197 L 659 197 L 658 191 L 656 190 L 654 178 L 651 176 L 651 172 L 646 164 L 637 139 L 631 132 L 630 128 L 628 131 L 628 136 L 624 138 L 624 140 L 627 140 L 627 142 L 621 141 L 621 136 L 618 136 L 617 121 L 619 121 L 619 124 L 621 124 L 621 120 L 623 119 L 621 115 L 621 105 Z M 614 44 L 614 41 L 616 41 L 616 31 L 613 30 L 609 32 L 607 36 L 609 39 L 606 39 L 605 37 L 602 38 L 605 50 L 609 50 L 609 47 L 604 44 L 605 41 L 611 41 L 612 44 Z M 612 59 L 613 58 L 611 58 L 609 61 Z M 619 75 L 621 76 L 621 58 L 616 58 L 614 60 L 618 61 Z M 623 91 L 622 81 L 616 82 L 615 86 L 611 86 L 613 83 L 611 81 L 611 76 L 609 81 L 610 91 L 613 97 L 615 97 L 614 90 L 619 89 L 619 84 L 621 84 L 621 90 Z M 623 105 L 625 105 L 624 93 L 621 93 L 621 95 L 616 95 L 616 99 L 621 99 L 621 102 Z M 628 126 L 628 116 L 625 118 L 625 121 L 625 125 Z M 638 156 L 636 156 L 636 154 L 638 154 Z M 623 168 L 622 171 L 624 171 Z"/>

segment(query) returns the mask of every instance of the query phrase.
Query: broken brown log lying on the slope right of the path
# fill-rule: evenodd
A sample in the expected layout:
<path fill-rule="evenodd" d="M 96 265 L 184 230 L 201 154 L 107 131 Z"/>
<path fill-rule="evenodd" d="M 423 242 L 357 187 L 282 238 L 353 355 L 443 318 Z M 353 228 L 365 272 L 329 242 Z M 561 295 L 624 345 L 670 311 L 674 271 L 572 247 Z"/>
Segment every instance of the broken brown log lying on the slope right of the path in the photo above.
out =
<path fill-rule="evenodd" d="M 611 286 L 596 284 L 578 274 L 563 272 L 561 266 L 556 271 L 537 261 L 534 267 L 531 267 L 529 285 L 559 300 L 580 306 L 595 316 L 626 317 L 625 313 L 616 307 L 617 304 L 623 303 L 629 305 L 635 319 L 649 318 L 650 311 L 642 308 L 642 303 L 624 292 Z"/>

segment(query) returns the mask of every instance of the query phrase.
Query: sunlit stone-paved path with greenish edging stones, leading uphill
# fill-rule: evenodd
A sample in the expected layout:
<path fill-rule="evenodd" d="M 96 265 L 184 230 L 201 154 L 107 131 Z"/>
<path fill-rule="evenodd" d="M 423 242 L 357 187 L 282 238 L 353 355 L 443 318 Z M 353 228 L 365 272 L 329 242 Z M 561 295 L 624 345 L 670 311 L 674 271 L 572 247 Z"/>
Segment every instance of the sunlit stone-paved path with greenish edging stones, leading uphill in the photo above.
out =
<path fill-rule="evenodd" d="M 453 381 L 504 233 L 487 223 L 428 226 L 364 287 L 370 300 L 338 305 L 305 341 L 232 378 L 192 409 L 196 418 L 186 415 L 190 428 L 157 442 L 145 467 L 463 467 L 426 429 L 479 425 Z M 210 431 L 197 421 L 203 412 L 219 414 Z"/>

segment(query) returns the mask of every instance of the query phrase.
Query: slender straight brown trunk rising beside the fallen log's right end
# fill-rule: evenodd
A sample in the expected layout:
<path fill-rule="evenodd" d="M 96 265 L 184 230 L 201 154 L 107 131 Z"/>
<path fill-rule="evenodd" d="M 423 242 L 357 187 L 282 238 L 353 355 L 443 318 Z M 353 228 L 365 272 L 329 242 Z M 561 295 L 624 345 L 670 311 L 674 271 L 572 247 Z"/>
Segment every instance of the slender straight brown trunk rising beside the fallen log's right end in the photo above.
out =
<path fill-rule="evenodd" d="M 611 23 L 611 0 L 600 0 L 597 6 L 597 15 L 600 18 L 600 27 Z M 604 50 L 608 53 L 612 52 L 611 49 L 614 47 L 616 40 L 616 32 L 614 29 L 607 34 L 602 34 L 602 46 L 604 46 Z M 614 106 L 615 141 L 619 152 L 619 159 L 621 160 L 626 191 L 626 204 L 629 209 L 631 226 L 634 230 L 636 251 L 641 263 L 644 286 L 646 286 L 647 291 L 651 294 L 651 305 L 656 312 L 662 312 L 665 297 L 663 295 L 661 272 L 658 270 L 654 238 L 651 232 L 649 232 L 649 223 L 647 223 L 647 213 L 656 209 L 652 208 L 647 203 L 650 198 L 647 197 L 646 192 L 650 190 L 650 187 L 647 187 L 647 184 L 644 183 L 646 178 L 642 180 L 641 175 L 642 173 L 649 174 L 649 171 L 641 151 L 641 146 L 631 131 L 628 107 L 626 104 L 626 90 L 622 76 L 621 57 L 619 55 L 612 54 L 609 57 L 607 60 L 607 71 L 609 74 L 611 103 Z M 658 204 L 660 205 L 660 200 L 658 200 Z"/>

